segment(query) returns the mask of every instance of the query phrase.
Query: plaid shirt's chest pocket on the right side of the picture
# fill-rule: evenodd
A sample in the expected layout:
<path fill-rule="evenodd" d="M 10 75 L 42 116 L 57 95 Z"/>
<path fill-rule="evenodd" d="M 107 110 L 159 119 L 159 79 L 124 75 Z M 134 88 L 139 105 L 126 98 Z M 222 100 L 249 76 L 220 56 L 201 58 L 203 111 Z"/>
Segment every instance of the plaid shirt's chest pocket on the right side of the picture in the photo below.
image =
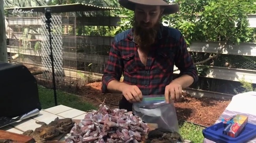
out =
<path fill-rule="evenodd" d="M 159 52 L 155 59 L 155 67 L 157 73 L 173 72 L 174 52 L 163 51 Z"/>

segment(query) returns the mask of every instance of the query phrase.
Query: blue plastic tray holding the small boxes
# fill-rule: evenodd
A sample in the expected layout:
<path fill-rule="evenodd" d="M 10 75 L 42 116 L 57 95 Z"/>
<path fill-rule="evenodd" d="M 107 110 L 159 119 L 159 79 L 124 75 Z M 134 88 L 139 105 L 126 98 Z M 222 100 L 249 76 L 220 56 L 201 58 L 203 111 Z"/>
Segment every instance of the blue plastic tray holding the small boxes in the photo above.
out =
<path fill-rule="evenodd" d="M 204 138 L 216 143 L 247 143 L 247 141 L 256 136 L 256 125 L 251 123 L 247 123 L 245 128 L 236 138 L 222 134 L 223 130 L 224 125 L 222 122 L 220 122 L 204 129 L 203 135 Z"/>

